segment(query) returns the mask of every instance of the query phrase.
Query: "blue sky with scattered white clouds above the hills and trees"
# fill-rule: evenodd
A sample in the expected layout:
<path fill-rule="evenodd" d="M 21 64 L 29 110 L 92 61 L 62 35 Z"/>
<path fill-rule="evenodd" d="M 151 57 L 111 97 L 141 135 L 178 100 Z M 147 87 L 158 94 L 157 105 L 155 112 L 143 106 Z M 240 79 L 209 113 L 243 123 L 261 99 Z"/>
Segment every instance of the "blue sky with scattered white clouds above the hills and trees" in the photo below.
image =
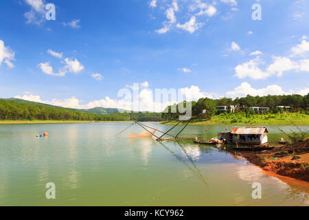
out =
<path fill-rule="evenodd" d="M 56 5 L 56 20 L 45 5 Z M 262 20 L 254 21 L 259 3 Z M 306 0 L 5 0 L 0 96 L 64 107 L 124 107 L 140 83 L 192 99 L 308 94 Z M 169 104 L 168 102 L 163 105 Z M 146 106 L 146 107 L 145 107 Z"/>

